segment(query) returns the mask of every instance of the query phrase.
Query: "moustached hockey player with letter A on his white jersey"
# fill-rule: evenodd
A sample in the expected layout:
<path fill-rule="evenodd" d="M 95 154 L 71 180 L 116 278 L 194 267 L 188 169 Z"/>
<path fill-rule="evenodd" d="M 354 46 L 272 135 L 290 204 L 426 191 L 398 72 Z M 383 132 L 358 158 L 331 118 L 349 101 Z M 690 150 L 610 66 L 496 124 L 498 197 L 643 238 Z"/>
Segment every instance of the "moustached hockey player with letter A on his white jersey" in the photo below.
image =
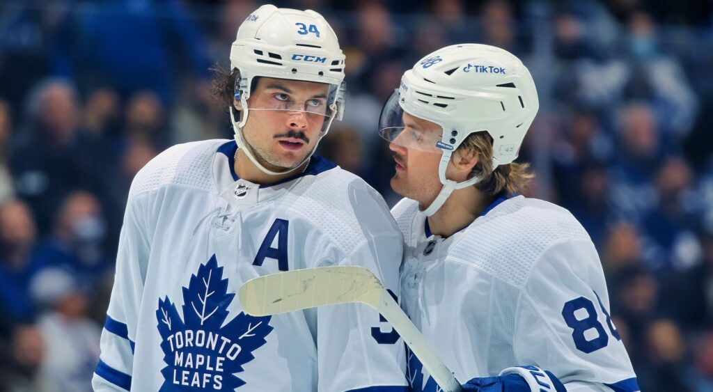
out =
<path fill-rule="evenodd" d="M 169 148 L 133 180 L 95 390 L 405 391 L 399 335 L 366 306 L 242 311 L 243 282 L 307 267 L 359 264 L 398 293 L 402 239 L 374 190 L 312 155 L 344 109 L 327 21 L 261 6 L 230 61 L 235 140 Z"/>

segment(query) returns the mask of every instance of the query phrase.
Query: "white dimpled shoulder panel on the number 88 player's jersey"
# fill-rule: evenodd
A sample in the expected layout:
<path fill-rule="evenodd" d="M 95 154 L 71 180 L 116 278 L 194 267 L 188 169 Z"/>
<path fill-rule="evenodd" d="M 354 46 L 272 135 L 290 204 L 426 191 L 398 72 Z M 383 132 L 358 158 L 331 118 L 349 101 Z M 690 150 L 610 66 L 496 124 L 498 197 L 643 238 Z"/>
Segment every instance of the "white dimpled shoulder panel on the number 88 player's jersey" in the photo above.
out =
<path fill-rule="evenodd" d="M 513 197 L 466 229 L 448 258 L 468 262 L 496 279 L 522 288 L 545 249 L 562 239 L 589 239 L 568 210 L 542 200 Z M 487 257 L 478 257 L 487 255 Z"/>

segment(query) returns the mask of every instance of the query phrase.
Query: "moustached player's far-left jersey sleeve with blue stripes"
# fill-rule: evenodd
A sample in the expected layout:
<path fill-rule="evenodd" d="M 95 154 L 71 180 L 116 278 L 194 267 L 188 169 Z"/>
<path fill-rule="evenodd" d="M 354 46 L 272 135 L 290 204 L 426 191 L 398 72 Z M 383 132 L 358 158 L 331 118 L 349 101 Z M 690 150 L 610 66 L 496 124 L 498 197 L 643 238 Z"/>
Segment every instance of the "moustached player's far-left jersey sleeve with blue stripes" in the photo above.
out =
<path fill-rule="evenodd" d="M 141 200 L 142 195 L 130 199 L 124 214 L 101 354 L 92 379 L 94 391 L 128 391 L 131 386 L 136 322 L 150 249 Z"/>

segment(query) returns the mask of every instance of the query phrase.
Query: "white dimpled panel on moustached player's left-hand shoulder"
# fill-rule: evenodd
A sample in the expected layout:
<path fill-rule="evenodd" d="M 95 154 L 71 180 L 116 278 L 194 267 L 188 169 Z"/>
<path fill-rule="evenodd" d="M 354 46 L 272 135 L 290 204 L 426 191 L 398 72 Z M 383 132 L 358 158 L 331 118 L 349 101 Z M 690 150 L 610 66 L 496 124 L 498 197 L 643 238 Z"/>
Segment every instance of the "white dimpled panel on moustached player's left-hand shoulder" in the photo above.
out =
<path fill-rule="evenodd" d="M 131 183 L 129 200 L 165 185 L 197 190 L 212 187 L 212 159 L 225 140 L 202 140 L 174 145 L 150 160 Z"/>

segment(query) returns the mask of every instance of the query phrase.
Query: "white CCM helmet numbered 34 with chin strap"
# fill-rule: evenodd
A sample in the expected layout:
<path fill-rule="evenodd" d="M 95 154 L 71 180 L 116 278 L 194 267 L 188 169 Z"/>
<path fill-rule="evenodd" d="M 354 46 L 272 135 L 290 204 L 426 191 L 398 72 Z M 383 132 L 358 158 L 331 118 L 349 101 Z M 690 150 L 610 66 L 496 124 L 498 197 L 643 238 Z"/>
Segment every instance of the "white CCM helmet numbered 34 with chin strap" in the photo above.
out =
<path fill-rule="evenodd" d="M 240 70 L 235 81 L 235 99 L 240 100 L 240 118 L 230 108 L 230 119 L 235 130 L 235 141 L 252 163 L 263 172 L 279 175 L 257 162 L 246 147 L 242 127 L 247 123 L 252 81 L 257 76 L 329 85 L 326 116 L 320 138 L 327 134 L 332 120 L 342 120 L 344 113 L 344 53 L 339 48 L 337 35 L 324 17 L 315 11 L 278 9 L 266 4 L 247 16 L 237 30 L 237 38 L 230 49 L 230 68 Z M 317 149 L 317 143 L 309 159 Z M 304 161 L 302 162 L 304 163 Z M 301 165 L 301 163 L 300 163 Z M 299 166 L 299 165 L 297 165 Z M 297 167 L 295 167 L 297 168 Z"/>

